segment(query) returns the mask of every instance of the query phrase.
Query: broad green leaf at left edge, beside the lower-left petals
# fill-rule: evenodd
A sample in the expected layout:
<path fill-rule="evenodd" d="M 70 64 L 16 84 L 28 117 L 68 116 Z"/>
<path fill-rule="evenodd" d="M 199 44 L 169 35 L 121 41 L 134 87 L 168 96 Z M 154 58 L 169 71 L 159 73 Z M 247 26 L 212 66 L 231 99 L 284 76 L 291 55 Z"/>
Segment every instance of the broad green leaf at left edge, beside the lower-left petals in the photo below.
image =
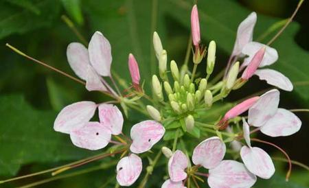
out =
<path fill-rule="evenodd" d="M 90 156 L 68 134 L 53 130 L 56 113 L 35 110 L 21 95 L 0 97 L 0 175 L 15 175 L 27 163 L 52 163 Z"/>

